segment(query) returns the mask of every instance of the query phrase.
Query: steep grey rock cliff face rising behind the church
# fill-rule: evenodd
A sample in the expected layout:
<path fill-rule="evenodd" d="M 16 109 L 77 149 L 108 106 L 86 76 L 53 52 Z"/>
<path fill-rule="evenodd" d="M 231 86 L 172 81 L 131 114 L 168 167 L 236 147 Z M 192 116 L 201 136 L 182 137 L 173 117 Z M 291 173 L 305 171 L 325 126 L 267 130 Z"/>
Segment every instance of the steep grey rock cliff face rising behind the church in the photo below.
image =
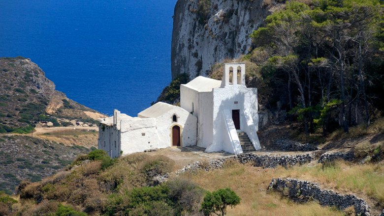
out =
<path fill-rule="evenodd" d="M 172 79 L 206 76 L 215 62 L 247 54 L 249 35 L 268 9 L 262 0 L 178 0 L 173 17 Z"/>

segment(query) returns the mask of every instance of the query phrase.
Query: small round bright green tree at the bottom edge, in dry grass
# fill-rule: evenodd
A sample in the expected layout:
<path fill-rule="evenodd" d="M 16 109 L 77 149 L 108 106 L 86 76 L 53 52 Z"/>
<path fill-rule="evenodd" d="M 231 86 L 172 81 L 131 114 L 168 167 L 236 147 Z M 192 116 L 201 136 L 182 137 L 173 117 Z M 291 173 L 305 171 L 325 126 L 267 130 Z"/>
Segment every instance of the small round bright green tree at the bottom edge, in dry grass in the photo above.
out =
<path fill-rule="evenodd" d="M 201 210 L 204 215 L 218 215 L 224 216 L 226 213 L 226 207 L 230 206 L 233 208 L 240 203 L 240 197 L 236 193 L 229 189 L 218 189 L 211 192 L 207 192 L 204 197 L 203 203 L 201 204 Z"/>

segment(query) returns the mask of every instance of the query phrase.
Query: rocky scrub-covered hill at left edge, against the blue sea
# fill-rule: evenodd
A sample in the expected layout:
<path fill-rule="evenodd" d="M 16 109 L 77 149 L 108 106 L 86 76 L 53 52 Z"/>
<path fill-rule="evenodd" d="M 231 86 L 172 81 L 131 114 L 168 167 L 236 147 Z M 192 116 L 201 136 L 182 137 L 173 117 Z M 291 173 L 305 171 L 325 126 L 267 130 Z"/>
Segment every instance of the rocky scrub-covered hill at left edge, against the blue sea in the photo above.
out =
<path fill-rule="evenodd" d="M 68 120 L 94 124 L 97 111 L 68 99 L 30 59 L 0 58 L 0 133 L 30 133 L 38 122 L 72 125 Z"/>

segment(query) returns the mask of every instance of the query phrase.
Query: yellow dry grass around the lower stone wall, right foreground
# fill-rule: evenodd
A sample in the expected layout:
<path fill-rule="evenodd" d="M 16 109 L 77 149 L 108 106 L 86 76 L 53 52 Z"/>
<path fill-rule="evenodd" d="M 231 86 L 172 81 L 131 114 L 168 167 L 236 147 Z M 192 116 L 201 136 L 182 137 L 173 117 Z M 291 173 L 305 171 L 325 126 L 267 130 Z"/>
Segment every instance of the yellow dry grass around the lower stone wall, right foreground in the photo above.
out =
<path fill-rule="evenodd" d="M 345 213 L 317 203 L 297 204 L 280 195 L 267 193 L 272 178 L 292 177 L 320 183 L 324 189 L 336 189 L 343 193 L 357 193 L 368 196 L 384 205 L 384 167 L 380 164 L 351 165 L 336 162 L 334 166 L 295 166 L 290 169 L 261 169 L 238 163 L 231 163 L 224 169 L 210 172 L 186 173 L 183 178 L 191 179 L 207 190 L 229 187 L 240 197 L 240 205 L 228 210 L 228 215 L 294 215 L 335 216 Z"/>

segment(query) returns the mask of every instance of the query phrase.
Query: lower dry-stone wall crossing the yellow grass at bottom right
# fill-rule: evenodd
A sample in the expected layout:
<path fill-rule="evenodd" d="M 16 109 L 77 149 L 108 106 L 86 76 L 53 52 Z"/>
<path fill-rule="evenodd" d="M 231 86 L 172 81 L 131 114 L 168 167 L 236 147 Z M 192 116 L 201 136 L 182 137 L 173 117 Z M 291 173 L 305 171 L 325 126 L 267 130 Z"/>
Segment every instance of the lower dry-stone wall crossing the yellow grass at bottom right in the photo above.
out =
<path fill-rule="evenodd" d="M 363 199 L 351 194 L 343 195 L 333 190 L 320 189 L 320 186 L 313 182 L 277 178 L 272 179 L 268 189 L 281 192 L 284 196 L 294 201 L 307 202 L 316 200 L 322 206 L 335 206 L 340 210 L 353 206 L 356 216 L 371 215 L 370 207 Z"/>

